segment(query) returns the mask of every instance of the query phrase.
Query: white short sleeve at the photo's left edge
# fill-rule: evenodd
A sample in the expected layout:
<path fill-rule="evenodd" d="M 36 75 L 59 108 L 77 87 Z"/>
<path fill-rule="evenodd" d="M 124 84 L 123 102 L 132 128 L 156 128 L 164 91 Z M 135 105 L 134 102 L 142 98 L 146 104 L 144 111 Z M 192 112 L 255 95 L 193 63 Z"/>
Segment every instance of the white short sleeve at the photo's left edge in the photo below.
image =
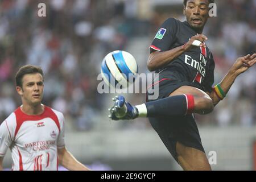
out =
<path fill-rule="evenodd" d="M 0 156 L 5 156 L 8 148 L 11 146 L 13 140 L 7 126 L 7 121 L 3 121 L 0 125 Z"/>

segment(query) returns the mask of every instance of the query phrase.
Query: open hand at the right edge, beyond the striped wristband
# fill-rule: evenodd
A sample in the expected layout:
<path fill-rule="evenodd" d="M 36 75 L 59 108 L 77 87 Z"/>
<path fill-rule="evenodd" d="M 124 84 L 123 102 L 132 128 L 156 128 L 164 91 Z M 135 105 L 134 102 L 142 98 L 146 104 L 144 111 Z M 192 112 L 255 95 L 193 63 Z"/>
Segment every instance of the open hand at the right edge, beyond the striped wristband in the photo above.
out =
<path fill-rule="evenodd" d="M 239 57 L 230 69 L 231 72 L 240 75 L 256 63 L 256 53 Z"/>

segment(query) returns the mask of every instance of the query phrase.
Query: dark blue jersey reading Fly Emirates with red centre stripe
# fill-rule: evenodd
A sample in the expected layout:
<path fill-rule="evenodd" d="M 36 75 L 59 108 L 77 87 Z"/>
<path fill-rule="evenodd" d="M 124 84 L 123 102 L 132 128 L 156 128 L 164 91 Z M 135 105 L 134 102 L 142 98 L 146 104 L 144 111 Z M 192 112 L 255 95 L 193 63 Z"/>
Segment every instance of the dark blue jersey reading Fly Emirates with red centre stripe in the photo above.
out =
<path fill-rule="evenodd" d="M 188 40 L 197 35 L 197 32 L 187 21 L 180 22 L 168 18 L 160 27 L 151 46 L 150 53 L 154 51 L 168 51 L 175 47 L 183 46 Z M 164 68 L 171 68 L 187 78 L 187 81 L 203 88 L 205 92 L 212 91 L 214 82 L 214 59 L 209 48 L 197 47 L 184 52 L 168 65 L 156 71 L 159 73 Z"/>

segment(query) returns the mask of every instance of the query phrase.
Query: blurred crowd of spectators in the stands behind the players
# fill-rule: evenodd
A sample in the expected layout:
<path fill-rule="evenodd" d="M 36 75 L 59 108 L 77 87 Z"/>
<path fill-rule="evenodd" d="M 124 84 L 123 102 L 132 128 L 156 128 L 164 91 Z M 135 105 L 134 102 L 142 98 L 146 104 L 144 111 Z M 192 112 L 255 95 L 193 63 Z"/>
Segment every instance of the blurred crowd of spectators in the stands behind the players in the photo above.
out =
<path fill-rule="evenodd" d="M 40 2 L 46 3 L 46 17 L 38 16 Z M 151 41 L 165 18 L 184 20 L 182 3 L 169 5 L 170 10 L 161 14 L 161 7 L 148 6 L 148 2 L 0 1 L 0 122 L 21 104 L 14 77 L 25 64 L 43 68 L 43 103 L 63 112 L 75 129 L 93 130 L 96 122 L 102 122 L 96 115 L 108 120 L 103 114 L 110 101 L 97 93 L 103 57 L 110 51 L 125 50 L 134 38 L 145 36 Z M 150 14 L 138 15 L 143 3 Z M 209 20 L 204 31 L 216 62 L 216 83 L 237 57 L 256 52 L 255 9 L 255 0 L 217 1 L 217 17 Z M 145 70 L 147 57 L 144 55 Z M 238 77 L 212 114 L 196 116 L 199 124 L 255 125 L 255 71 L 256 66 Z M 137 98 L 143 101 L 144 96 L 137 94 L 134 100 Z M 149 127 L 148 123 L 144 126 Z"/>

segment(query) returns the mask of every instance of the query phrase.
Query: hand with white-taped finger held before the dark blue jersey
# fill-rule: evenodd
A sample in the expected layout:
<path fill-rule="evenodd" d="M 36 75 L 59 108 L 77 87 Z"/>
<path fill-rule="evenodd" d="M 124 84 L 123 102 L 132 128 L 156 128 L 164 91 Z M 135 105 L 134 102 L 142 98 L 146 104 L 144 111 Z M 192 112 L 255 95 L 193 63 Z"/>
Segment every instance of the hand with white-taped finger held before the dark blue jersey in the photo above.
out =
<path fill-rule="evenodd" d="M 208 40 L 208 38 L 203 34 L 192 36 L 192 38 L 190 38 L 188 42 L 184 44 L 184 51 L 190 51 L 191 49 L 199 46 L 206 48 L 205 44 L 203 43 L 205 40 Z M 197 45 L 195 44 L 196 42 L 198 43 Z"/>

